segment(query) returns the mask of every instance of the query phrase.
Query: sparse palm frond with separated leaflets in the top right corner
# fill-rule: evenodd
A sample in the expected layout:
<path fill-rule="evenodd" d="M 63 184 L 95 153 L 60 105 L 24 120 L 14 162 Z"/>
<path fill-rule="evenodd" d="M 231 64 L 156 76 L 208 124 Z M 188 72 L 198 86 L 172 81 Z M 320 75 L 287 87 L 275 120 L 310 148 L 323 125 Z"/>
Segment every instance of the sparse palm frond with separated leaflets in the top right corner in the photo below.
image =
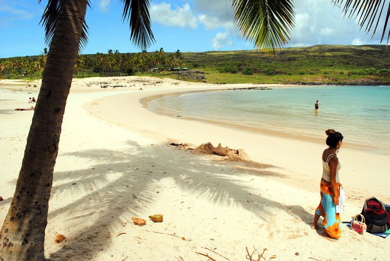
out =
<path fill-rule="evenodd" d="M 356 14 L 356 19 L 358 19 L 360 29 L 365 27 L 364 31 L 366 34 L 373 31 L 371 37 L 373 37 L 376 33 L 376 29 L 378 28 L 383 9 L 385 8 L 387 1 L 388 0 L 332 0 L 333 4 L 337 6 L 341 6 L 344 3 L 343 12 L 345 16 L 348 15 L 348 19 L 353 18 Z M 381 42 L 385 38 L 390 18 L 390 1 L 388 2 L 389 6 L 385 15 Z M 387 32 L 387 44 L 389 44 L 389 38 L 390 27 Z"/>

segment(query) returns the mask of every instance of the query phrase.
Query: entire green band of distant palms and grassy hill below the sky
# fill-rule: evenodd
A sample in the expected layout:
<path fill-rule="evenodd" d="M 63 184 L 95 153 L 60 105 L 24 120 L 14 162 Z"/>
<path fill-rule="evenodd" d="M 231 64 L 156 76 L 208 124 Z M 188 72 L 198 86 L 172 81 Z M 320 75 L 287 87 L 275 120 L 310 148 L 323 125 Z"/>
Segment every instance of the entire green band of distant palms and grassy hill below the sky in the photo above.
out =
<path fill-rule="evenodd" d="M 137 54 L 109 50 L 108 54 L 80 56 L 75 77 L 142 74 L 219 84 L 390 85 L 390 50 L 386 49 L 385 45 L 316 45 L 284 48 L 277 56 L 254 50 L 165 53 L 161 48 L 160 51 Z M 40 76 L 44 67 L 42 61 L 45 61 L 42 55 L 9 59 L 35 61 L 38 68 L 30 65 L 30 69 L 35 68 L 35 71 L 30 70 L 35 72 L 29 74 L 30 78 Z M 3 77 L 20 77 L 24 71 L 21 67 L 13 73 L 4 71 L 4 64 L 9 59 L 0 60 Z M 189 70 L 172 71 L 177 67 Z M 152 68 L 159 68 L 160 72 L 151 72 Z"/>

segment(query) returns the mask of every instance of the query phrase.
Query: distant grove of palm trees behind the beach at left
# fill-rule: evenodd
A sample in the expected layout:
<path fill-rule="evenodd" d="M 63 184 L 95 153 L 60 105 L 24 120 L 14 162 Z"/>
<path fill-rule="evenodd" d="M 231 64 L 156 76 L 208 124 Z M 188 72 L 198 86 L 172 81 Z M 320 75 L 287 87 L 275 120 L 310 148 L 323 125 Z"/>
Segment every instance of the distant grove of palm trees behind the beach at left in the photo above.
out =
<path fill-rule="evenodd" d="M 185 66 L 180 50 L 167 54 L 163 48 L 153 53 L 142 51 L 137 54 L 121 54 L 109 49 L 107 54 L 95 56 L 78 55 L 74 66 L 74 77 L 84 76 L 122 76 L 149 72 L 152 68 L 171 70 Z M 40 78 L 46 66 L 47 49 L 38 56 L 8 58 L 0 61 L 0 79 L 5 78 Z"/>

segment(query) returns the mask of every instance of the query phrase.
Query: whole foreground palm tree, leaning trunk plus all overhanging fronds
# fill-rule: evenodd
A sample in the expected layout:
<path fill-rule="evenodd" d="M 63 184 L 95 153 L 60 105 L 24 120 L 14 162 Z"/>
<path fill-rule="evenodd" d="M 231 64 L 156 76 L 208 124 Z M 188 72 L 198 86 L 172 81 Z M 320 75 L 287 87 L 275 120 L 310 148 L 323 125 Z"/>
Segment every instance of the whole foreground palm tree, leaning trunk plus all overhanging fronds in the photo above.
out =
<path fill-rule="evenodd" d="M 39 0 L 40 2 L 41 0 Z M 330 0 L 331 1 L 331 0 Z M 146 50 L 155 41 L 151 31 L 149 0 L 121 0 L 123 20 L 130 25 L 135 45 Z M 332 0 L 344 4 L 344 12 L 357 14 L 359 25 L 376 31 L 386 1 Z M 287 44 L 294 26 L 292 0 L 232 0 L 234 21 L 240 33 L 256 48 L 274 53 Z M 34 111 L 15 194 L 0 230 L 0 260 L 44 260 L 53 170 L 59 151 L 59 136 L 81 44 L 87 43 L 84 20 L 89 0 L 48 0 L 42 16 L 50 44 L 39 103 Z M 386 14 L 386 12 L 385 12 Z M 382 39 L 387 32 L 390 4 Z M 371 27 L 373 24 L 375 26 Z M 389 39 L 390 30 L 387 38 Z"/>

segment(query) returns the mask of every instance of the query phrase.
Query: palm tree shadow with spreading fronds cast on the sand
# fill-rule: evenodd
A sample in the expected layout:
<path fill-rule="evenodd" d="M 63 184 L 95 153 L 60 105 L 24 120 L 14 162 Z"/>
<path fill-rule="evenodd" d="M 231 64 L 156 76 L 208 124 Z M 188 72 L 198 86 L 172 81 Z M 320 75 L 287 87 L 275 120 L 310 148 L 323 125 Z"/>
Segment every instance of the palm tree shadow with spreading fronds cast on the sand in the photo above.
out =
<path fill-rule="evenodd" d="M 169 189 L 159 185 L 160 181 L 167 179 L 173 180 L 173 186 L 181 191 L 215 205 L 230 206 L 233 201 L 264 221 L 270 209 L 281 209 L 299 217 L 291 206 L 261 195 L 248 195 L 251 187 L 242 179 L 248 180 L 248 175 L 280 177 L 279 173 L 267 170 L 273 166 L 254 162 L 232 163 L 216 158 L 210 161 L 203 155 L 165 145 L 145 148 L 135 142 L 128 144 L 128 149 L 120 151 L 100 149 L 60 155 L 89 159 L 97 164 L 92 168 L 55 173 L 52 200 L 56 200 L 56 205 L 61 205 L 61 199 L 64 203 L 49 212 L 46 244 L 52 243 L 61 229 L 71 226 L 74 230 L 66 235 L 67 240 L 59 244 L 57 251 L 49 254 L 49 260 L 71 260 L 75 256 L 89 260 L 94 259 L 99 251 L 109 258 L 109 246 L 117 232 L 126 223 L 131 223 L 131 217 L 151 215 L 153 210 L 148 206 L 158 200 L 164 189 Z M 167 160 L 168 153 L 171 157 Z M 177 170 L 179 175 L 170 174 Z M 237 175 L 242 179 L 237 179 Z M 243 200 L 247 198 L 250 204 L 249 200 Z M 181 211 L 186 216 L 192 209 L 188 207 Z M 66 227 L 51 226 L 51 221 L 64 218 Z"/>

